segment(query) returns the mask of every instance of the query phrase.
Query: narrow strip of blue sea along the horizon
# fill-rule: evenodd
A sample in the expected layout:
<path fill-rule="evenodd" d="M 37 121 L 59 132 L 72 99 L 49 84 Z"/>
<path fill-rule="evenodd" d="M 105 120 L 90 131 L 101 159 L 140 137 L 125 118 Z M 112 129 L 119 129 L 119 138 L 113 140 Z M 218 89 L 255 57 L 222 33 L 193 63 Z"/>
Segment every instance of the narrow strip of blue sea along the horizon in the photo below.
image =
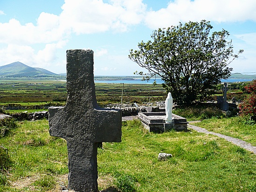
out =
<path fill-rule="evenodd" d="M 253 79 L 221 79 L 221 82 L 249 82 Z M 154 79 L 151 79 L 149 81 L 141 81 L 141 79 L 131 79 L 131 80 L 95 80 L 95 83 L 125 83 L 125 84 L 153 84 Z M 156 79 L 157 84 L 162 84 L 164 81 L 162 81 L 160 78 Z"/>

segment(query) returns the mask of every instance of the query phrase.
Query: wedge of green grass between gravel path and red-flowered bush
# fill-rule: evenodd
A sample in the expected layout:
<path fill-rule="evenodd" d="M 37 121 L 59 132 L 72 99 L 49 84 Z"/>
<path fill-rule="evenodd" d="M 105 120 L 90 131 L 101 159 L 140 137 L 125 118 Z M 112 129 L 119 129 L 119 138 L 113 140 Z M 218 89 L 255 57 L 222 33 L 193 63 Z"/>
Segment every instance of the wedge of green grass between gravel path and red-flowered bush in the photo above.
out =
<path fill-rule="evenodd" d="M 205 119 L 194 125 L 249 142 L 256 146 L 256 124 L 246 123 L 241 117 Z"/>

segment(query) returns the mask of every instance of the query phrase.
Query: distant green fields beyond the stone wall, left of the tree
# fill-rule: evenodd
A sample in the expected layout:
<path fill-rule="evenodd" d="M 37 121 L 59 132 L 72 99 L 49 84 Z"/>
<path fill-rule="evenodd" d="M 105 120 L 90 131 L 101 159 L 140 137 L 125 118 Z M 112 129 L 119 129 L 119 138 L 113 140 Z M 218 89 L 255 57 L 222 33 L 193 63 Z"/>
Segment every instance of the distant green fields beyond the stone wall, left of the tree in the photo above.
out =
<path fill-rule="evenodd" d="M 96 83 L 97 101 L 103 107 L 108 103 L 121 103 L 122 83 Z M 161 85 L 125 84 L 123 103 L 147 103 L 164 100 L 166 91 Z M 66 82 L 55 79 L 0 79 L 0 105 L 19 103 L 42 105 L 49 102 L 65 102 Z"/>

